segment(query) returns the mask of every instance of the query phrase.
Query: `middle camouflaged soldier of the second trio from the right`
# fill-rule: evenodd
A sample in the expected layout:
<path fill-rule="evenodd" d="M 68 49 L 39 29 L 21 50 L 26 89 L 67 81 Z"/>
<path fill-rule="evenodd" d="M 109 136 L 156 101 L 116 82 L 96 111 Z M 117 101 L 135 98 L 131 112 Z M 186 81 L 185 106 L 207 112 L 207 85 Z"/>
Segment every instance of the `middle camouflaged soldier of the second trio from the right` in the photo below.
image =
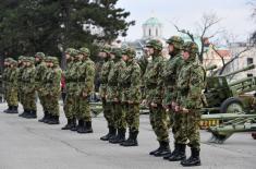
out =
<path fill-rule="evenodd" d="M 110 143 L 121 143 L 125 141 L 125 130 L 126 130 L 126 121 L 125 121 L 125 112 L 123 110 L 124 105 L 121 105 L 121 95 L 122 95 L 122 85 L 121 85 L 121 74 L 125 70 L 125 62 L 121 59 L 122 49 L 113 48 L 111 50 L 111 55 L 114 56 L 114 65 L 111 68 L 108 76 L 108 98 L 107 101 L 111 106 L 111 112 L 113 113 L 114 126 L 111 129 L 112 135 L 109 138 Z M 118 134 L 115 134 L 115 130 L 118 130 Z"/>

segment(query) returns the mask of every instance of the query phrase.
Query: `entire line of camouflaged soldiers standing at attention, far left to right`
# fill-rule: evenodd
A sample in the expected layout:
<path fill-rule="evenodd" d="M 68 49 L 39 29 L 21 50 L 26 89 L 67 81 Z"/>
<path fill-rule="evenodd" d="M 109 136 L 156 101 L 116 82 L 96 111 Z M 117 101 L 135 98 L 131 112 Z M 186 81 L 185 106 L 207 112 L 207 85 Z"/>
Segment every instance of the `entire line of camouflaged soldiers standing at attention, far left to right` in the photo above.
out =
<path fill-rule="evenodd" d="M 198 46 L 192 41 L 184 43 L 179 36 L 172 36 L 167 44 L 169 60 L 162 57 L 161 41 L 154 39 L 146 44 L 145 53 L 151 60 L 147 62 L 145 71 L 135 59 L 136 52 L 133 48 L 101 48 L 98 56 L 103 64 L 99 74 L 99 93 L 109 132 L 100 140 L 121 146 L 137 146 L 139 105 L 143 104 L 149 108 L 149 121 L 159 142 L 159 147 L 149 155 L 181 161 L 183 166 L 199 166 L 198 124 L 205 71 L 197 59 Z M 63 72 L 66 83 L 64 113 L 68 123 L 62 130 L 93 133 L 89 97 L 94 92 L 96 72 L 89 56 L 87 48 L 65 50 L 68 68 Z M 10 84 L 15 84 L 14 81 L 17 80 L 17 98 L 24 107 L 23 117 L 36 118 L 37 90 L 45 113 L 39 121 L 58 124 L 61 70 L 52 57 L 45 58 L 39 52 L 35 58 L 36 68 L 33 58 L 19 59 L 22 65 L 11 63 L 10 69 L 19 68 L 17 77 L 5 79 L 5 82 L 9 83 L 8 86 L 12 86 Z M 8 95 L 12 95 L 12 87 L 8 88 Z M 16 112 L 17 101 L 11 104 L 8 99 L 8 111 Z M 174 137 L 172 152 L 169 145 L 170 128 Z M 192 152 L 190 158 L 185 155 L 187 145 Z"/>

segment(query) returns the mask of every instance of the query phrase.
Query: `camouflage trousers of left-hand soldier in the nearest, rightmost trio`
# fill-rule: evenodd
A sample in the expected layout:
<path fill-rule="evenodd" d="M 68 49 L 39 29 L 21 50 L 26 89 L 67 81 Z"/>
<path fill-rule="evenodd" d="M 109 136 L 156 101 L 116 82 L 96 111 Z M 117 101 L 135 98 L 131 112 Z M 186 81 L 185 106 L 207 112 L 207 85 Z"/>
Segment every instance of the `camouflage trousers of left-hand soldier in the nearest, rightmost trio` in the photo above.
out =
<path fill-rule="evenodd" d="M 150 124 L 159 142 L 169 142 L 167 117 L 167 112 L 162 106 L 149 107 Z"/>

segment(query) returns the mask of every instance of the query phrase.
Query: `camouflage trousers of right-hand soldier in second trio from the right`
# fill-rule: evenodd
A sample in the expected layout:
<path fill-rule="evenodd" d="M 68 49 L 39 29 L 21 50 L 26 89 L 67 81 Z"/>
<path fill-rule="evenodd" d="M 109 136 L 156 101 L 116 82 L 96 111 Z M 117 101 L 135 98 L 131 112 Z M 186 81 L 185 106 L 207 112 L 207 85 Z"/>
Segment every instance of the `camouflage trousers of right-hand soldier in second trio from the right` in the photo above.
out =
<path fill-rule="evenodd" d="M 138 131 L 139 126 L 139 104 L 125 104 L 125 121 L 130 129 L 130 132 Z"/>

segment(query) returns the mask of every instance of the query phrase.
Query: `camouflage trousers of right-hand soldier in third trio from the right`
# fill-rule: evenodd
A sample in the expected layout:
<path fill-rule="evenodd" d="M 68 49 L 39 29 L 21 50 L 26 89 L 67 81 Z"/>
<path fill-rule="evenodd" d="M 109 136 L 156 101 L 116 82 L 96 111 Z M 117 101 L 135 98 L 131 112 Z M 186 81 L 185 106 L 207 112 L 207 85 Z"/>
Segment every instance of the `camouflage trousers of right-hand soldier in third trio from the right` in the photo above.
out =
<path fill-rule="evenodd" d="M 78 111 L 77 120 L 84 120 L 86 122 L 92 121 L 90 108 L 89 108 L 89 96 L 78 97 Z"/>

